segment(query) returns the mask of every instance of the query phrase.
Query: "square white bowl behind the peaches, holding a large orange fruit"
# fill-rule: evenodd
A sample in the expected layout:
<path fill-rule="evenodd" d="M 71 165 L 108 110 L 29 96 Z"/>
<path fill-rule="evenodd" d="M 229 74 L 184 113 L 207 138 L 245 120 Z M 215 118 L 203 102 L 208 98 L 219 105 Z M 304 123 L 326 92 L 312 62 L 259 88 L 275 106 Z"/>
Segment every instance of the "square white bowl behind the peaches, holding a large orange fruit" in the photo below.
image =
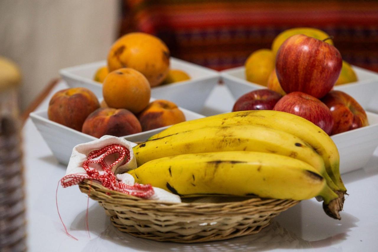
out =
<path fill-rule="evenodd" d="M 70 87 L 86 87 L 102 97 L 102 84 L 93 80 L 97 69 L 105 66 L 106 61 L 98 61 L 84 65 L 64 68 L 59 71 Z M 179 107 L 199 113 L 206 98 L 219 81 L 219 73 L 176 58 L 170 58 L 170 68 L 185 71 L 190 80 L 153 87 L 151 96 L 156 99 L 169 100 Z"/>

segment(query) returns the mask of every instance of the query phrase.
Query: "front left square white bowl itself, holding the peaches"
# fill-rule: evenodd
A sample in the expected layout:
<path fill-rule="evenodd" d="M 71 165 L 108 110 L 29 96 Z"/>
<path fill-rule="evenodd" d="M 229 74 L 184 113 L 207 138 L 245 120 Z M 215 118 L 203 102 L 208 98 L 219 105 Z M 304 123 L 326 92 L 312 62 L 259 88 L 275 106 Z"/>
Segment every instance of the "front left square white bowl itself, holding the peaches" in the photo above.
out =
<path fill-rule="evenodd" d="M 180 108 L 180 110 L 184 113 L 187 121 L 204 117 L 203 115 L 183 108 Z M 49 120 L 46 110 L 32 112 L 30 114 L 30 117 L 34 125 L 36 125 L 38 131 L 42 135 L 43 139 L 47 143 L 48 147 L 53 152 L 53 155 L 60 163 L 63 163 L 65 165 L 67 165 L 68 161 L 70 160 L 74 146 L 80 143 L 87 143 L 98 139 L 91 135 L 84 134 L 80 131 L 76 131 L 74 129 L 68 128 L 67 126 Z M 123 138 L 131 142 L 144 142 L 147 140 L 147 138 L 157 134 L 160 131 L 163 131 L 163 129 L 166 129 L 168 127 L 169 126 L 152 129 L 150 131 L 144 131 L 137 134 L 127 135 Z"/>

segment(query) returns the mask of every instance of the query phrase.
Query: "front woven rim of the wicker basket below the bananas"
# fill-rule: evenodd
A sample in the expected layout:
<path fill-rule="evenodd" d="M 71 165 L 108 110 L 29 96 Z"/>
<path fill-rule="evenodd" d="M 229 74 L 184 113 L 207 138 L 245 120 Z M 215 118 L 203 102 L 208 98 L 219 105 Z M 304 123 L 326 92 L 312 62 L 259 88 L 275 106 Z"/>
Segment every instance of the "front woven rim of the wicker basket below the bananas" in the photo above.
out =
<path fill-rule="evenodd" d="M 156 200 L 151 200 L 151 199 L 143 199 L 143 198 L 139 198 L 139 197 L 132 196 L 132 195 L 129 195 L 129 194 L 121 193 L 121 192 L 118 192 L 118 191 L 113 191 L 113 190 L 110 190 L 110 189 L 104 187 L 103 185 L 99 184 L 99 182 L 97 182 L 96 180 L 84 179 L 82 182 L 79 183 L 79 187 L 80 187 L 80 185 L 82 185 L 82 186 L 88 185 L 91 188 L 91 190 L 95 190 L 95 191 L 96 191 L 96 188 L 98 188 L 99 190 L 105 191 L 106 193 L 110 194 L 110 195 L 108 195 L 108 197 L 106 199 L 107 201 L 109 201 L 109 200 L 111 201 L 113 196 L 118 196 L 114 200 L 143 201 L 145 203 L 150 203 L 150 204 L 159 204 L 159 205 L 174 206 L 174 207 L 190 207 L 190 206 L 201 206 L 201 205 L 206 205 L 207 207 L 222 207 L 222 206 L 226 206 L 226 205 L 231 206 L 233 204 L 239 205 L 240 202 L 245 202 L 245 203 L 261 202 L 262 204 L 263 203 L 267 204 L 267 203 L 271 203 L 271 202 L 275 202 L 275 201 L 277 201 L 277 203 L 280 202 L 280 204 L 282 204 L 285 201 L 287 201 L 288 203 L 289 202 L 299 202 L 299 201 L 296 201 L 296 200 L 293 200 L 293 199 L 270 199 L 270 198 L 260 198 L 258 196 L 255 196 L 255 197 L 252 196 L 252 197 L 246 197 L 245 200 L 241 200 L 241 201 L 181 202 L 181 203 L 177 203 L 177 202 L 167 202 L 167 201 L 156 201 Z"/>

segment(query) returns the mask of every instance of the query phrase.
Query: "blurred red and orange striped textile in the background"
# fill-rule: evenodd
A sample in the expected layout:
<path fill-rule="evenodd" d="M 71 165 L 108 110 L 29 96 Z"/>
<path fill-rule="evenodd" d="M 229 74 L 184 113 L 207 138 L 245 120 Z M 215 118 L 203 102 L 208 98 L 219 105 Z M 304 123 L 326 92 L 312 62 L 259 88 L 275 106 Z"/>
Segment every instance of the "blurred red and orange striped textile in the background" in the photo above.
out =
<path fill-rule="evenodd" d="M 120 35 L 155 34 L 172 56 L 223 70 L 293 27 L 324 30 L 345 61 L 378 72 L 378 1 L 123 0 Z"/>

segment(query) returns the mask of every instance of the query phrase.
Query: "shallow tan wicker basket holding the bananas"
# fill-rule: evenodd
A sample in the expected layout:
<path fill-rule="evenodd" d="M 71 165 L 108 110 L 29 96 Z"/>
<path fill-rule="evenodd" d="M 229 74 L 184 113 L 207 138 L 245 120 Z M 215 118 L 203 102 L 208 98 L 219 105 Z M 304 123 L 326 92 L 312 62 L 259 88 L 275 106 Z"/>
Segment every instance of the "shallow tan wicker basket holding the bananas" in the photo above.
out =
<path fill-rule="evenodd" d="M 198 243 L 258 233 L 280 212 L 299 201 L 248 198 L 226 203 L 170 203 L 108 190 L 84 180 L 82 193 L 104 207 L 113 225 L 130 235 L 155 241 Z"/>

